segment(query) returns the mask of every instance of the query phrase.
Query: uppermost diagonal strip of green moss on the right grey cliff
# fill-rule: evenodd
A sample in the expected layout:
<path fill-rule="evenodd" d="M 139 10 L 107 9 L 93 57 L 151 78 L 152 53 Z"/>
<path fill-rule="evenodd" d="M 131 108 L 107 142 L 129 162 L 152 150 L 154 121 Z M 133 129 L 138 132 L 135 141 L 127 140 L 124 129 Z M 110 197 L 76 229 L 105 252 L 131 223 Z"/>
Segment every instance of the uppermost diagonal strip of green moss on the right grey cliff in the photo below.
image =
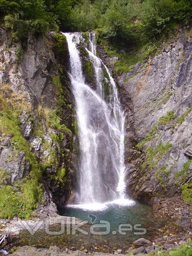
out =
<path fill-rule="evenodd" d="M 145 143 L 153 140 L 156 137 L 156 132 L 158 131 L 159 125 L 165 125 L 169 123 L 170 121 L 174 120 L 176 118 L 176 115 L 174 111 L 168 111 L 165 116 L 162 116 L 159 118 L 159 121 L 157 121 L 153 126 L 152 129 L 146 134 L 145 138 L 139 142 L 136 147 L 141 147 Z"/>

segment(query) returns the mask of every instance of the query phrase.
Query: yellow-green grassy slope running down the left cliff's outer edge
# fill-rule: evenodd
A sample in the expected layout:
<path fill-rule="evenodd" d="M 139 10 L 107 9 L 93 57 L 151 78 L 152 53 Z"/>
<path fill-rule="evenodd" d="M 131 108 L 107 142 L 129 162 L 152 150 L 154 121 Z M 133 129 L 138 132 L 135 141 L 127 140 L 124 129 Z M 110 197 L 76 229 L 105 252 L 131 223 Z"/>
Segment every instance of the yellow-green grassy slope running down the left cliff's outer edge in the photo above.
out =
<path fill-rule="evenodd" d="M 8 85 L 2 85 L 0 97 L 0 131 L 2 136 L 10 136 L 10 143 L 18 152 L 24 152 L 29 162 L 29 176 L 14 184 L 16 189 L 4 185 L 0 189 L 0 218 L 29 218 L 37 202 L 41 200 L 42 189 L 39 181 L 42 168 L 31 152 L 28 141 L 22 136 L 19 115 L 23 109 L 29 111 L 25 97 L 15 94 Z M 4 172 L 5 177 L 5 172 Z"/>

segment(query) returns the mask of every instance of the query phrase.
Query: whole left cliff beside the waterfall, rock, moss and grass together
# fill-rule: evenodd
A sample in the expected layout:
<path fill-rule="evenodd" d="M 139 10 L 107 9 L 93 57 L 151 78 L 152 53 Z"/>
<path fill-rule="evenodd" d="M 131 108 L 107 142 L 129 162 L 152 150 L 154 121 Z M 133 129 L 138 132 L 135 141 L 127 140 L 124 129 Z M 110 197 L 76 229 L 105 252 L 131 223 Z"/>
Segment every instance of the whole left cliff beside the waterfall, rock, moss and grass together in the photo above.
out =
<path fill-rule="evenodd" d="M 65 37 L 29 36 L 14 42 L 0 30 L 1 217 L 26 217 L 39 202 L 40 215 L 68 200 L 76 150 L 73 95 L 67 78 Z M 20 206 L 2 212 L 4 204 Z M 8 207 L 8 206 L 6 206 Z"/>

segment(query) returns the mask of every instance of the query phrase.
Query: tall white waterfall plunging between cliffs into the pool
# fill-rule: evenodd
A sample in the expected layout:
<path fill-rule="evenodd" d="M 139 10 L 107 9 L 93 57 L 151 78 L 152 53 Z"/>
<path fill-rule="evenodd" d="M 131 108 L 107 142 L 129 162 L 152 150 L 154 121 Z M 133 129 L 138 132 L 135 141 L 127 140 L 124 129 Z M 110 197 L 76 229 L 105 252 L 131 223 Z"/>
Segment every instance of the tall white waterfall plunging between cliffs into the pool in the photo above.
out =
<path fill-rule="evenodd" d="M 95 34 L 84 50 L 92 62 L 95 87 L 86 83 L 78 46 L 81 33 L 63 33 L 70 55 L 70 79 L 79 131 L 78 206 L 102 208 L 109 202 L 133 204 L 125 199 L 124 113 L 110 71 L 96 56 Z"/>

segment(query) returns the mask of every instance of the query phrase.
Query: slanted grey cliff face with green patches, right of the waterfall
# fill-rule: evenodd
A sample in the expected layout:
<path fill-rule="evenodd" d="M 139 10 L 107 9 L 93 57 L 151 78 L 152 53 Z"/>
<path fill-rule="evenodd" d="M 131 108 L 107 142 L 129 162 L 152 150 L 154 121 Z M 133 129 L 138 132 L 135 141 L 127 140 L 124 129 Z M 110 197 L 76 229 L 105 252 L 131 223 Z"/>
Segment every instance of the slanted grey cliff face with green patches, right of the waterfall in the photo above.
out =
<path fill-rule="evenodd" d="M 189 27 L 118 76 L 126 113 L 127 186 L 147 203 L 191 200 L 192 38 Z"/>

